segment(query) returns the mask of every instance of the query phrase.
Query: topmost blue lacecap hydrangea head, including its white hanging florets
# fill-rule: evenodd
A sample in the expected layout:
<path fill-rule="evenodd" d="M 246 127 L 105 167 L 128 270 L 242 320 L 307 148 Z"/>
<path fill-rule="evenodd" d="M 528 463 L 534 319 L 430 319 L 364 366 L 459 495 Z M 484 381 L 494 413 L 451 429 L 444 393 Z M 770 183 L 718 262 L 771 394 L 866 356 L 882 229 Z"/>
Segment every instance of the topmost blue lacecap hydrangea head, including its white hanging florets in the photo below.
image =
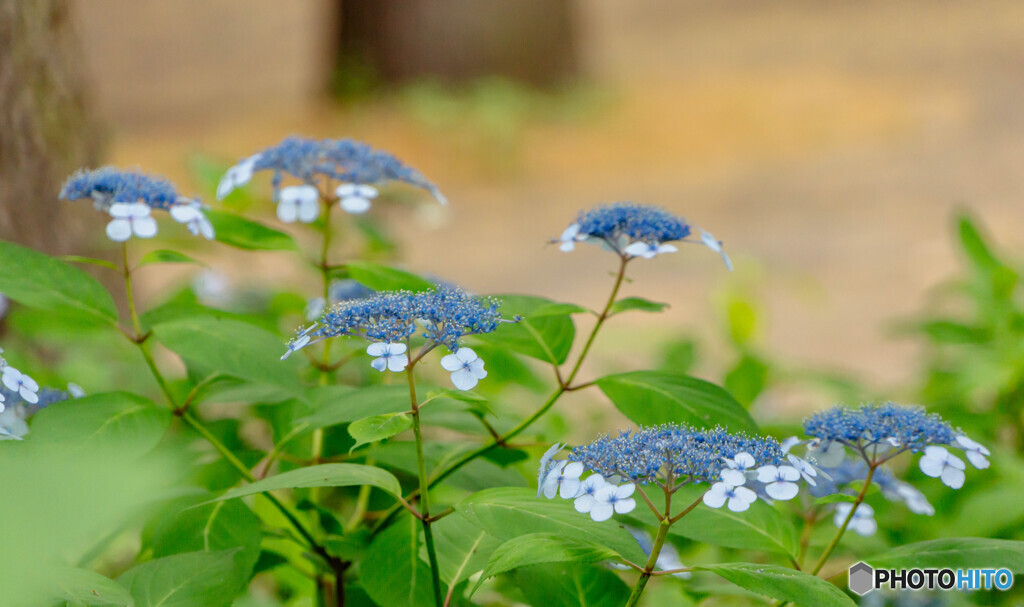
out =
<path fill-rule="evenodd" d="M 327 205 L 337 201 L 346 213 L 366 213 L 379 193 L 375 186 L 389 181 L 421 187 L 447 204 L 436 185 L 386 151 L 353 139 L 305 137 L 288 137 L 228 169 L 217 186 L 217 199 L 248 183 L 258 171 L 273 171 L 278 218 L 286 223 L 315 221 L 322 200 Z M 286 174 L 302 184 L 282 187 Z"/>

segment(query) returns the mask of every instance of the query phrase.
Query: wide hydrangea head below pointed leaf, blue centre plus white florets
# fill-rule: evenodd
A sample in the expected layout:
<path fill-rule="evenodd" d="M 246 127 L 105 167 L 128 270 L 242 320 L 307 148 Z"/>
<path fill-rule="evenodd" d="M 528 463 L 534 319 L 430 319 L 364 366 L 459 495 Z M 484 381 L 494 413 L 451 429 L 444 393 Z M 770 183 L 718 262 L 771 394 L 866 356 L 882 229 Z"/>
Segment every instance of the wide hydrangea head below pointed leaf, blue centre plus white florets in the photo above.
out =
<path fill-rule="evenodd" d="M 687 484 L 709 483 L 703 504 L 748 510 L 759 496 L 792 500 L 799 491 L 800 472 L 785 463 L 773 438 L 729 433 L 723 428 L 696 429 L 667 424 L 602 435 L 555 461 L 562 445 L 541 459 L 538 494 L 572 500 L 575 509 L 595 521 L 636 506 L 637 484 L 654 484 L 675 491 Z M 586 472 L 590 476 L 583 478 Z M 620 484 L 622 483 L 622 484 Z"/>

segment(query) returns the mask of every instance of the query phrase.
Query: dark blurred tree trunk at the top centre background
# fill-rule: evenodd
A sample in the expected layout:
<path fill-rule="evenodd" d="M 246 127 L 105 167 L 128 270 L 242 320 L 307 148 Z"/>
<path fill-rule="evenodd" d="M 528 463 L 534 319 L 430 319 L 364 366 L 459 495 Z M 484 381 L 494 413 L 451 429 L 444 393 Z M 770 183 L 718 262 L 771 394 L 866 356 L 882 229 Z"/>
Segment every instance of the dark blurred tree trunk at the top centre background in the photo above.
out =
<path fill-rule="evenodd" d="M 339 82 L 575 75 L 568 0 L 340 0 Z M 353 83 L 353 81 L 355 81 Z"/>

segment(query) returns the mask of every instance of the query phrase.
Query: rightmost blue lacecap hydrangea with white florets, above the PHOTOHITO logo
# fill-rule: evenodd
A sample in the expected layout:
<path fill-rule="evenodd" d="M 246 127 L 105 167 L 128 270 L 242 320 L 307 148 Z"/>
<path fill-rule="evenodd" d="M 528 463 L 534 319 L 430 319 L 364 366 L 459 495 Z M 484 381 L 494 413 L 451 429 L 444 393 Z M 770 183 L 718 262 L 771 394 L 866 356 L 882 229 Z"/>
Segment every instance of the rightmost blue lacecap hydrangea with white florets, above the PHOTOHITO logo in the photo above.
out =
<path fill-rule="evenodd" d="M 871 482 L 890 502 L 900 502 L 915 514 L 931 516 L 935 508 L 924 493 L 897 479 L 884 464 L 904 453 L 922 453 L 919 466 L 926 475 L 939 478 L 953 489 L 964 486 L 967 465 L 950 452 L 958 449 L 979 469 L 988 468 L 989 450 L 955 430 L 936 414 L 922 407 L 865 404 L 859 407 L 836 406 L 819 411 L 804 421 L 810 440 L 796 437 L 785 441 L 786 450 L 806 446 L 806 458 L 823 474 L 811 493 L 821 497 L 834 493 L 854 494 L 849 484 L 870 474 Z M 794 458 L 795 456 L 790 456 Z M 850 514 L 851 505 L 837 506 L 837 526 Z M 873 511 L 861 504 L 854 512 L 850 527 L 862 535 L 874 532 Z"/>

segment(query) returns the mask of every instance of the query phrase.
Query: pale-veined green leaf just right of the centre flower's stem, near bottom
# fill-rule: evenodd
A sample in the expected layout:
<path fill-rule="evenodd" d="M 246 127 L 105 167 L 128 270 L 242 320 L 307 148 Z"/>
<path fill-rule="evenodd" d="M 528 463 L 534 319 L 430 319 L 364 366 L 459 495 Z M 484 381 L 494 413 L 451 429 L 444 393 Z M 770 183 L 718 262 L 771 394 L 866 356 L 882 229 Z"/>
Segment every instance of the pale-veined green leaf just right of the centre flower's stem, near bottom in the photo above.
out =
<path fill-rule="evenodd" d="M 437 549 L 437 570 L 449 586 L 458 584 L 483 569 L 487 559 L 501 541 L 483 529 L 472 525 L 456 513 L 431 525 Z M 420 559 L 427 561 L 426 549 Z"/>

